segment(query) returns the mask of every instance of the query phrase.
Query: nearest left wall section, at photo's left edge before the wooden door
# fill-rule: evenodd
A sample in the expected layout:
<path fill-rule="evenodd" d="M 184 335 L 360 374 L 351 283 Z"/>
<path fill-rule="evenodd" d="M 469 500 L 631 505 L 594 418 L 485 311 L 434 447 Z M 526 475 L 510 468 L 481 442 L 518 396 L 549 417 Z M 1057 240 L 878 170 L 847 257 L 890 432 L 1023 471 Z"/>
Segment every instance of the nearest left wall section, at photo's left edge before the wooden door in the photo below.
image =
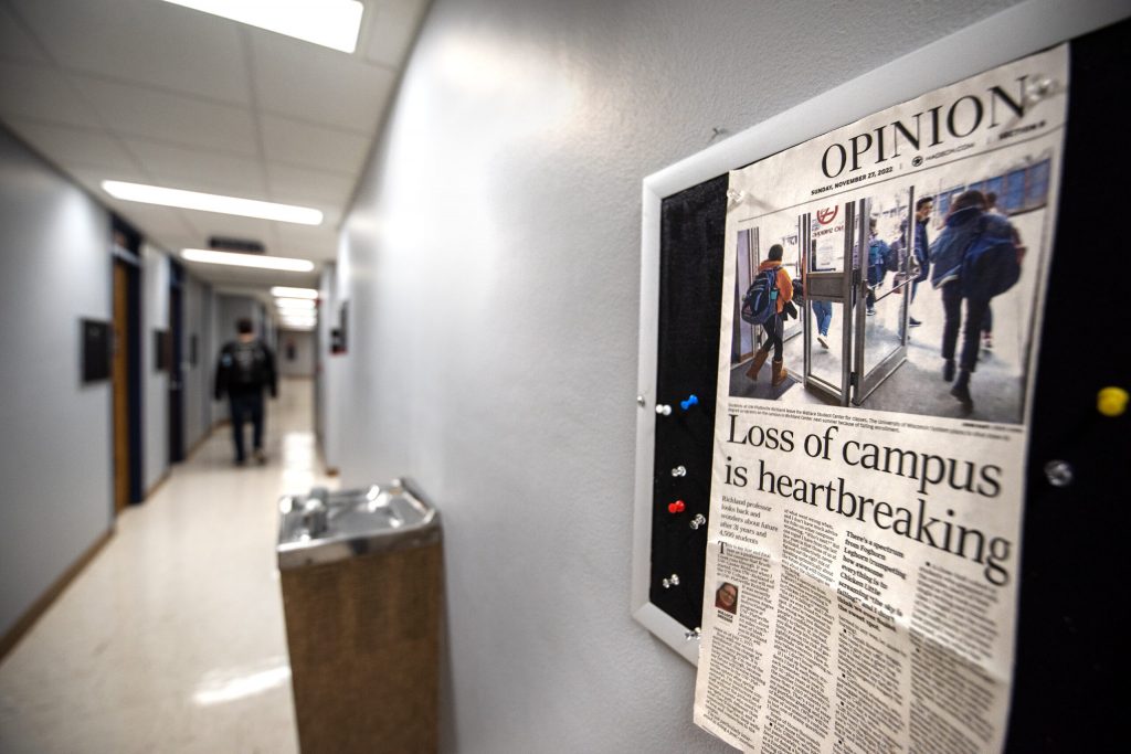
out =
<path fill-rule="evenodd" d="M 0 634 L 112 526 L 110 381 L 79 319 L 111 319 L 110 216 L 0 128 Z"/>

